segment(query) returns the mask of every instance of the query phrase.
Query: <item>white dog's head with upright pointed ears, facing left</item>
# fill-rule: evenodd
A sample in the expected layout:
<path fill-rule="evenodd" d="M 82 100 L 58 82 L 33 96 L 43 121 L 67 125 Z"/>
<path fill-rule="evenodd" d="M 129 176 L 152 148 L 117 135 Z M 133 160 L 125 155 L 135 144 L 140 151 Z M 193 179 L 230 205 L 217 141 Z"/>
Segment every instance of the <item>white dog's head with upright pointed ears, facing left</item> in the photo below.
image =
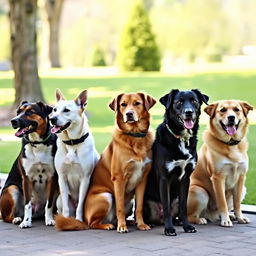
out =
<path fill-rule="evenodd" d="M 59 89 L 56 90 L 57 103 L 50 115 L 52 133 L 60 133 L 72 129 L 82 115 L 87 104 L 87 90 L 82 91 L 74 100 L 66 100 Z"/>

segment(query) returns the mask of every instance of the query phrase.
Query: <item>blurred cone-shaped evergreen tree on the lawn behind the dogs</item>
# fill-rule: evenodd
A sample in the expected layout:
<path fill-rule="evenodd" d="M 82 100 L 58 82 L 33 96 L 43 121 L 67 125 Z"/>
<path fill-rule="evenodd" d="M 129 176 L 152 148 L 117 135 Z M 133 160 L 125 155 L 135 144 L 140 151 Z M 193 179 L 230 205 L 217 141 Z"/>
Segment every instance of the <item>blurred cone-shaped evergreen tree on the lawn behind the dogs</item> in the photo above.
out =
<path fill-rule="evenodd" d="M 118 63 L 124 71 L 158 71 L 159 50 L 142 2 L 134 5 L 124 29 L 118 52 Z"/>

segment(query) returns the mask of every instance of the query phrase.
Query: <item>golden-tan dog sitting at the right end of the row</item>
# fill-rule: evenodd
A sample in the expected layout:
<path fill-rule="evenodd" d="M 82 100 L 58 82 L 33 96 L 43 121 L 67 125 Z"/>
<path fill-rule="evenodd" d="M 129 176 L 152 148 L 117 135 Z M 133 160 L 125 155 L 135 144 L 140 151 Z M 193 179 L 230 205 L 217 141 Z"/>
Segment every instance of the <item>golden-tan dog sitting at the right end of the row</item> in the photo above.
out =
<path fill-rule="evenodd" d="M 203 134 L 197 167 L 191 176 L 188 219 L 207 224 L 207 219 L 231 227 L 232 220 L 249 223 L 241 212 L 248 170 L 248 112 L 253 107 L 239 100 L 217 101 L 205 108 L 209 127 Z M 234 209 L 234 215 L 229 211 Z"/>

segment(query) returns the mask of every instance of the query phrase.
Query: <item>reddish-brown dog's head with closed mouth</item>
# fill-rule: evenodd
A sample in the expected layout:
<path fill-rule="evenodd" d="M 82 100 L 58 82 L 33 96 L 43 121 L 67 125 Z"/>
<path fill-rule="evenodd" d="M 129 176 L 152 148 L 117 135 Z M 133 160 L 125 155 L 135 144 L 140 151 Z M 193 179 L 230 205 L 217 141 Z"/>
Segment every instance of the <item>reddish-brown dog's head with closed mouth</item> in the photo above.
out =
<path fill-rule="evenodd" d="M 148 111 L 155 103 L 154 98 L 144 93 L 122 93 L 110 102 L 109 107 L 116 112 L 119 128 L 131 131 L 138 125 L 149 125 Z"/>

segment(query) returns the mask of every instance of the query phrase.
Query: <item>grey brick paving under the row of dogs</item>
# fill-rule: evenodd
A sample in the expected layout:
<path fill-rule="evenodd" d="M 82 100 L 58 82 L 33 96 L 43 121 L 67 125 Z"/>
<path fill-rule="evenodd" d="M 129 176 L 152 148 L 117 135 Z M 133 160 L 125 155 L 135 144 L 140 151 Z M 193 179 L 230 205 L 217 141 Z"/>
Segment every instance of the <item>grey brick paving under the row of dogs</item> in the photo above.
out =
<path fill-rule="evenodd" d="M 196 225 L 197 233 L 187 234 L 176 227 L 176 237 L 163 235 L 163 227 L 139 231 L 129 227 L 129 233 L 85 230 L 58 232 L 34 221 L 30 229 L 0 221 L 1 256 L 55 255 L 179 255 L 179 256 L 251 256 L 256 252 L 256 215 L 246 214 L 250 224 L 234 223 L 223 228 L 218 223 Z"/>

